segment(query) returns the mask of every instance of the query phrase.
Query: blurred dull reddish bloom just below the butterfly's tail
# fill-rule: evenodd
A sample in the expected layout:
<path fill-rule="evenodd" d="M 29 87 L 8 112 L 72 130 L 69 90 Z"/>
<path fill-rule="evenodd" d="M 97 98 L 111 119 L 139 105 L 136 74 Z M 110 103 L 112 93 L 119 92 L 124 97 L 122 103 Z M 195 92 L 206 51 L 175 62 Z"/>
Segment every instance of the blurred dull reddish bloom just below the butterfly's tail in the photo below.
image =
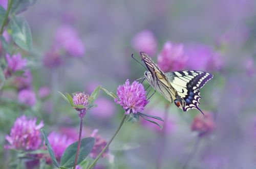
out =
<path fill-rule="evenodd" d="M 205 115 L 198 114 L 191 123 L 191 130 L 198 131 L 203 136 L 215 129 L 215 122 L 212 115 L 206 112 Z"/>

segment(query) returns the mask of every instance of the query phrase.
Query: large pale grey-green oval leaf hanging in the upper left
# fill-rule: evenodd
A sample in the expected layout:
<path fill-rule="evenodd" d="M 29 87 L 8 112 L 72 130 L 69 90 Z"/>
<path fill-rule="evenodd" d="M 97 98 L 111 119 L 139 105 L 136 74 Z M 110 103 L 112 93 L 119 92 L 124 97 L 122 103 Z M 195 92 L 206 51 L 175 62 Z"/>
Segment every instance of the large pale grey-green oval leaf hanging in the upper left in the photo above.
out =
<path fill-rule="evenodd" d="M 13 16 L 8 24 L 14 42 L 24 50 L 29 51 L 32 46 L 32 35 L 24 18 Z"/>

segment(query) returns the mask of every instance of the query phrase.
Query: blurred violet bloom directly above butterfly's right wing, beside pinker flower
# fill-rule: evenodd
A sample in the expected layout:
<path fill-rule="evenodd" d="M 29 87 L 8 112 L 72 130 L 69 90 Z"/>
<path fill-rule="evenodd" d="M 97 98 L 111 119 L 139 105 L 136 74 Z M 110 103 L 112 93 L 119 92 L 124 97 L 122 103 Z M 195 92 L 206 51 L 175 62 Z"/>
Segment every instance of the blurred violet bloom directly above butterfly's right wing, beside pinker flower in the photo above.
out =
<path fill-rule="evenodd" d="M 191 45 L 186 49 L 188 56 L 187 68 L 192 70 L 216 71 L 220 70 L 223 61 L 220 55 L 208 46 Z"/>

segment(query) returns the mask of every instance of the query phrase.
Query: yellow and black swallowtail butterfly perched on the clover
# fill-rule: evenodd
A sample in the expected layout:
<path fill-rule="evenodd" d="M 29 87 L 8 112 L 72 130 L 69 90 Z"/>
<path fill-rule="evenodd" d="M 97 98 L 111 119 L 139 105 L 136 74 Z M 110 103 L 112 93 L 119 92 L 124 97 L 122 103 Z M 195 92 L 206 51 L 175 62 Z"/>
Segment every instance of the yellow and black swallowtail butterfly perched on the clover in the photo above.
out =
<path fill-rule="evenodd" d="M 144 77 L 155 90 L 171 103 L 174 101 L 183 111 L 196 108 L 202 112 L 198 107 L 201 99 L 199 89 L 214 77 L 212 74 L 196 70 L 164 73 L 146 53 L 140 52 L 140 55 L 147 68 Z"/>

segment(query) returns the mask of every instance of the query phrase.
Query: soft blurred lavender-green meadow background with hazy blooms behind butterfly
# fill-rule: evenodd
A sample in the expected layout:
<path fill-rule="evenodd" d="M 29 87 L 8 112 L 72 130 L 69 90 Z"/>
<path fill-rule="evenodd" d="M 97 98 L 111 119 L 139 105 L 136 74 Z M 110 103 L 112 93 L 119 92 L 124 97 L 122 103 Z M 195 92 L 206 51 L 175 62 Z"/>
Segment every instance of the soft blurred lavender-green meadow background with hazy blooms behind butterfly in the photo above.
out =
<path fill-rule="evenodd" d="M 31 52 L 20 51 L 27 59 L 25 73 L 31 74 L 5 83 L 0 165 L 9 168 L 15 159 L 15 152 L 4 148 L 5 136 L 22 115 L 76 141 L 77 112 L 57 91 L 90 94 L 100 85 L 116 93 L 126 79 L 143 76 L 131 55 L 140 60 L 144 51 L 164 72 L 214 74 L 200 90 L 206 116 L 166 106 L 156 93 L 144 113 L 163 118 L 163 130 L 142 119 L 126 122 L 97 167 L 256 168 L 255 7 L 253 0 L 36 2 L 19 14 L 32 32 Z M 35 98 L 24 105 L 18 95 L 27 88 Z M 83 134 L 98 129 L 108 141 L 124 110 L 103 92 L 96 104 L 84 118 Z"/>

